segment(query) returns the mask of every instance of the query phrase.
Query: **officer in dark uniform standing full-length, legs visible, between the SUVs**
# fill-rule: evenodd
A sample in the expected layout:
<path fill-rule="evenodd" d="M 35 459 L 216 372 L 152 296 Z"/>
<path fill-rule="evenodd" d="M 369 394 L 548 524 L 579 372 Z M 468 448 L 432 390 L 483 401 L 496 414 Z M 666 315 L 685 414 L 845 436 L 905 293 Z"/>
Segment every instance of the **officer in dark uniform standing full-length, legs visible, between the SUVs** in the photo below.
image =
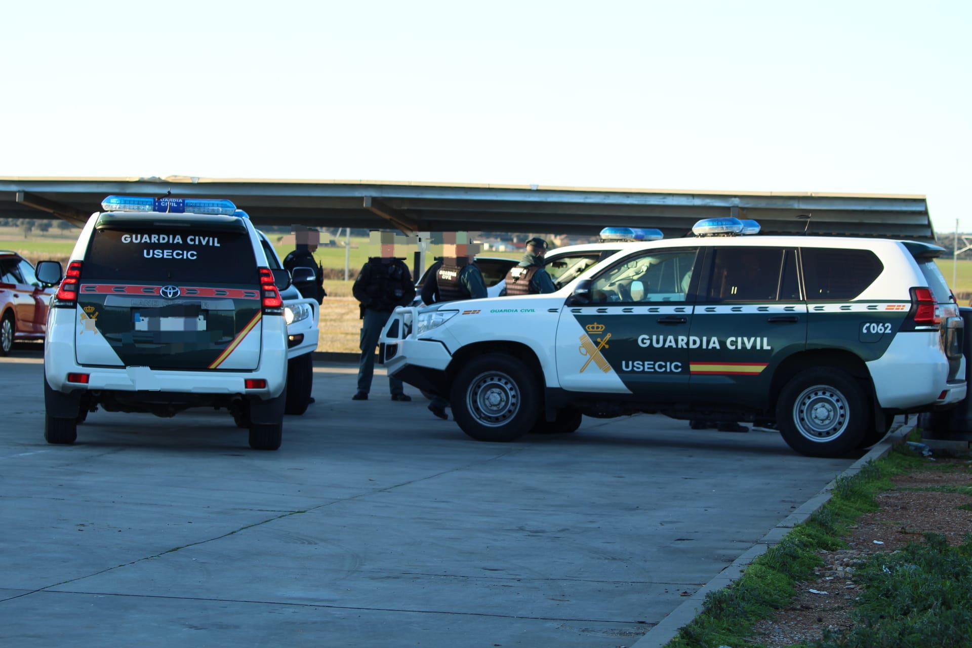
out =
<path fill-rule="evenodd" d="M 384 246 L 383 246 L 384 247 Z M 381 329 L 388 323 L 397 306 L 407 306 L 415 297 L 415 286 L 408 266 L 395 256 L 372 256 L 367 259 L 351 291 L 361 302 L 362 358 L 358 364 L 358 392 L 353 400 L 367 400 L 374 374 L 374 349 L 378 346 Z M 402 391 L 401 381 L 388 377 L 392 400 L 411 400 Z"/>

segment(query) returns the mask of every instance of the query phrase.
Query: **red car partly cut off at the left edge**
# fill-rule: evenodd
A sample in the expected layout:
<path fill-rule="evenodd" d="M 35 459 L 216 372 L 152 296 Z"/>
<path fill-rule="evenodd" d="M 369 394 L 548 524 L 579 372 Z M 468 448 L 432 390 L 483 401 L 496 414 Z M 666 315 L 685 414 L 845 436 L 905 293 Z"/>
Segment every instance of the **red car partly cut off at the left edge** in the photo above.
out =
<path fill-rule="evenodd" d="M 43 340 L 48 303 L 56 287 L 37 281 L 34 266 L 9 250 L 0 250 L 0 356 L 15 340 Z"/>

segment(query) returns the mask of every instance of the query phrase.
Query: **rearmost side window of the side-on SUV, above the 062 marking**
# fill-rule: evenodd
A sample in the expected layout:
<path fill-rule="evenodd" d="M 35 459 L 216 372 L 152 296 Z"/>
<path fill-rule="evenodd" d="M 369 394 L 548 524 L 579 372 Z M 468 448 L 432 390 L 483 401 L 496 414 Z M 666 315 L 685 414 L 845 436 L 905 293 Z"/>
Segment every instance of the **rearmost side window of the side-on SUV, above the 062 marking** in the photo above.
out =
<path fill-rule="evenodd" d="M 800 257 L 808 301 L 853 299 L 885 269 L 870 250 L 802 248 Z"/>

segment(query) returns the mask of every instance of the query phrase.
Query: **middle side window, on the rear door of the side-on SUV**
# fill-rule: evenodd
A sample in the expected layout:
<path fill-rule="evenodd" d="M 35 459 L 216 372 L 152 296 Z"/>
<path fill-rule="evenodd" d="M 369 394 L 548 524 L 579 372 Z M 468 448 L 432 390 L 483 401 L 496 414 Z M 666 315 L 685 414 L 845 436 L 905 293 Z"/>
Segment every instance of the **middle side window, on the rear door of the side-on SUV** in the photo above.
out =
<path fill-rule="evenodd" d="M 781 248 L 711 248 L 706 301 L 796 301 L 796 255 Z"/>

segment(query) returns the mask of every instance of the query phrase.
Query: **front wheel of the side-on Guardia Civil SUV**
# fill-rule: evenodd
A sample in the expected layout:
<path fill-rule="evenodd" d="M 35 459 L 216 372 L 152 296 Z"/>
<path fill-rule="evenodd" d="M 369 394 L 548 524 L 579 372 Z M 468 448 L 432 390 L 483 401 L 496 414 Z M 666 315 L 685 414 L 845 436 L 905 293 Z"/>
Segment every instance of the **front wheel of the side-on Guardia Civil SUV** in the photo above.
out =
<path fill-rule="evenodd" d="M 537 378 L 505 354 L 473 358 L 452 386 L 452 416 L 477 441 L 513 441 L 537 423 Z"/>

